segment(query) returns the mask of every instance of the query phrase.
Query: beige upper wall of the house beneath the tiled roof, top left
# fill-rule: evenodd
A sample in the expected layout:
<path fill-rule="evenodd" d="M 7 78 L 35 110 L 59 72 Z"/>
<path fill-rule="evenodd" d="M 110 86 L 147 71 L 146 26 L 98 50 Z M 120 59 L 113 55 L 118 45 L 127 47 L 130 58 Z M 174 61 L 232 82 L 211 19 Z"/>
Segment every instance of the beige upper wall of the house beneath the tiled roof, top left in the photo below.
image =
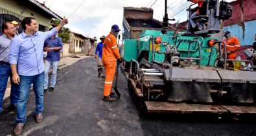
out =
<path fill-rule="evenodd" d="M 50 16 L 45 16 L 43 13 L 33 10 L 31 7 L 29 7 L 29 5 L 25 5 L 23 3 L 23 1 L 1 0 L 0 7 L 5 8 L 6 10 L 15 12 L 17 14 L 20 14 L 21 16 L 34 17 L 34 18 L 36 18 L 36 21 L 38 24 L 43 25 L 43 26 L 47 27 L 48 29 L 51 27 L 51 17 Z"/>

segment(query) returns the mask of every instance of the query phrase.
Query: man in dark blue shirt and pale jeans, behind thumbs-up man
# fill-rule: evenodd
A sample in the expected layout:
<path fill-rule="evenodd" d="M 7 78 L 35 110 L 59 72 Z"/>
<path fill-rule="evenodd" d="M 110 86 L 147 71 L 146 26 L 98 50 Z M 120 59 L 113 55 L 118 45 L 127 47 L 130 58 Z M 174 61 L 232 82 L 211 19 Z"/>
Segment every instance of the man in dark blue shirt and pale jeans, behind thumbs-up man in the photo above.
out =
<path fill-rule="evenodd" d="M 51 30 L 52 28 L 50 28 Z M 60 50 L 62 49 L 62 39 L 52 36 L 45 40 L 43 51 L 47 52 L 47 56 L 45 58 L 45 84 L 44 84 L 44 91 L 48 89 L 48 76 L 49 71 L 52 67 L 51 73 L 51 82 L 50 82 L 50 89 L 49 91 L 54 91 L 54 87 L 56 84 L 57 79 L 57 68 L 58 62 L 60 61 Z"/>

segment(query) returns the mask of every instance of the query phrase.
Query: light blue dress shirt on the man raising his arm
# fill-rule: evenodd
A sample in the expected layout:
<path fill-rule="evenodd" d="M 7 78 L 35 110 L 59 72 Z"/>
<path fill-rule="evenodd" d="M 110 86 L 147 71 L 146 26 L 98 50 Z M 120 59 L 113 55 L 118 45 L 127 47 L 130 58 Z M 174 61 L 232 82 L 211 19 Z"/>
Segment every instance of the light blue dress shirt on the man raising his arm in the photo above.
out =
<path fill-rule="evenodd" d="M 56 28 L 49 32 L 36 32 L 28 36 L 25 32 L 16 36 L 10 43 L 9 63 L 17 64 L 17 73 L 22 76 L 35 76 L 45 71 L 43 64 L 43 43 L 57 34 Z"/>

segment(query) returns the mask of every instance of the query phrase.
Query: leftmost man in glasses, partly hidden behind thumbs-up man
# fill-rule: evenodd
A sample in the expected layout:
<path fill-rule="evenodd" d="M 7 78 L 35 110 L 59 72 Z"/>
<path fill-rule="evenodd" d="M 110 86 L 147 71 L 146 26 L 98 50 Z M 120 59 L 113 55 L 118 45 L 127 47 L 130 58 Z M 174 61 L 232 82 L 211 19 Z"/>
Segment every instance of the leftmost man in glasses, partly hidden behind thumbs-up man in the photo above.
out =
<path fill-rule="evenodd" d="M 3 35 L 0 36 L 0 113 L 3 111 L 3 97 L 10 77 L 10 111 L 16 109 L 19 86 L 12 81 L 12 71 L 9 63 L 10 43 L 16 34 L 16 27 L 10 22 L 3 23 Z"/>

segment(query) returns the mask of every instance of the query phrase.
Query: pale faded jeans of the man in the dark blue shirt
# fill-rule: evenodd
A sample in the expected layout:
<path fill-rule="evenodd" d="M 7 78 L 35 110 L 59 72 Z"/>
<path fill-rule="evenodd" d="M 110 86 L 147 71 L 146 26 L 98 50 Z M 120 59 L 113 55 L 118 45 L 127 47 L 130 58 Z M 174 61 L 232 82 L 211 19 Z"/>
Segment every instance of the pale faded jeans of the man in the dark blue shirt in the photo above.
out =
<path fill-rule="evenodd" d="M 50 82 L 50 87 L 54 87 L 56 84 L 56 79 L 57 79 L 57 68 L 58 68 L 58 61 L 56 62 L 49 62 L 45 60 L 45 84 L 44 84 L 44 89 L 48 88 L 48 76 L 49 76 L 49 71 L 52 66 L 52 75 L 51 75 L 51 82 Z"/>

